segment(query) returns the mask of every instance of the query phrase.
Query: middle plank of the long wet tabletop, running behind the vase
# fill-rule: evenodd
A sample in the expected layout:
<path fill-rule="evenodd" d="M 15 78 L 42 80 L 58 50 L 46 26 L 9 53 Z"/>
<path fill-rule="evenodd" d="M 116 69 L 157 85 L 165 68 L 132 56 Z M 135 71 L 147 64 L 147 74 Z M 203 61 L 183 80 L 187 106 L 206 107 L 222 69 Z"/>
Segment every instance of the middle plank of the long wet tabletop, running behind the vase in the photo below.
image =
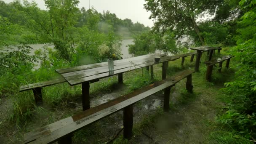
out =
<path fill-rule="evenodd" d="M 157 54 L 157 56 L 165 56 L 163 54 Z M 131 67 L 133 65 L 139 65 L 139 64 L 144 64 L 147 62 L 155 61 L 154 57 L 146 58 L 146 59 L 139 59 L 139 60 L 134 60 L 134 61 L 125 61 L 120 64 L 117 64 L 114 61 L 114 70 L 118 69 L 123 69 L 127 67 Z M 74 79 L 74 78 L 79 78 L 79 77 L 88 77 L 91 75 L 98 75 L 104 72 L 109 72 L 108 66 L 104 67 L 97 67 L 93 69 L 85 69 L 85 70 L 80 70 L 80 71 L 75 71 L 75 72 L 68 72 L 68 73 L 63 73 L 61 74 L 64 78 L 69 77 L 69 79 Z"/>

